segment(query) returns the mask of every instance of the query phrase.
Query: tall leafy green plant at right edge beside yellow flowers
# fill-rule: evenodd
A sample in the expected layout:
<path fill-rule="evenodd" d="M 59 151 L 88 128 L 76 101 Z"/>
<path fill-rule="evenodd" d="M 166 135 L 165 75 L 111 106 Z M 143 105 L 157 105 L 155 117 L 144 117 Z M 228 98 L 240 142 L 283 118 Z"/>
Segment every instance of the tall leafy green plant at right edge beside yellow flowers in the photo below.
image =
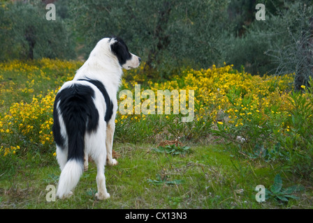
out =
<path fill-rule="evenodd" d="M 313 101 L 309 91 L 312 91 L 312 87 L 307 89 L 306 94 L 300 91 L 290 93 L 292 107 L 289 109 L 290 116 L 286 123 L 292 128 L 287 136 L 277 136 L 284 148 L 287 164 L 294 172 L 304 177 L 312 177 L 313 173 Z"/>

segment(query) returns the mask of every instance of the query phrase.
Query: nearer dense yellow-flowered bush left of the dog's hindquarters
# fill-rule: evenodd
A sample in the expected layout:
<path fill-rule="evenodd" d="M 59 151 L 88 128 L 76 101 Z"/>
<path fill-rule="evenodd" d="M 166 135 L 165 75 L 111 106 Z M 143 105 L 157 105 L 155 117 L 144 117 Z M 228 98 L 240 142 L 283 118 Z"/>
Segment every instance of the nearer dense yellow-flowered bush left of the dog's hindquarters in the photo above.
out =
<path fill-rule="evenodd" d="M 30 103 L 14 103 L 10 107 L 8 114 L 0 118 L 0 134 L 1 138 L 7 139 L 7 146 L 8 143 L 24 146 L 34 144 L 40 148 L 48 148 L 44 145 L 50 146 L 53 143 L 52 111 L 56 93 L 57 91 L 48 91 L 45 97 L 33 98 Z M 15 146 L 9 148 L 15 153 Z M 6 154 L 7 149 L 4 155 Z"/>

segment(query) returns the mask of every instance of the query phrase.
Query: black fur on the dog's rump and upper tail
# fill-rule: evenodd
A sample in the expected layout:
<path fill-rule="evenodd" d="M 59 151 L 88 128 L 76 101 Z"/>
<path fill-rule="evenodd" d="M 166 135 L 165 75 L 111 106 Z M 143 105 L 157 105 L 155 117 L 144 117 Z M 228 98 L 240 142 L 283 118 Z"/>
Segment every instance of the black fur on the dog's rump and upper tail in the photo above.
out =
<path fill-rule="evenodd" d="M 68 160 L 84 159 L 85 132 L 96 130 L 99 113 L 94 105 L 94 90 L 90 86 L 73 84 L 57 94 L 54 101 L 52 132 L 54 141 L 64 148 L 65 140 L 61 136 L 59 116 L 63 118 L 68 137 Z M 59 111 L 57 105 L 59 103 Z"/>

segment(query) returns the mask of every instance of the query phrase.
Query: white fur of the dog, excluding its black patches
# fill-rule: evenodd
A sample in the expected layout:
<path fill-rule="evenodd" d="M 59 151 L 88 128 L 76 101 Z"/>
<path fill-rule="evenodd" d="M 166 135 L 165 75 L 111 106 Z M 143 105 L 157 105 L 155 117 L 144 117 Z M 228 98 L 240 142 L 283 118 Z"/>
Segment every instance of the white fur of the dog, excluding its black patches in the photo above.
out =
<path fill-rule="evenodd" d="M 108 164 L 115 165 L 117 160 L 112 159 L 112 141 L 115 131 L 115 116 L 117 112 L 117 90 L 122 78 L 122 66 L 119 65 L 117 56 L 111 52 L 110 45 L 115 43 L 115 38 L 103 38 L 97 43 L 96 47 L 92 50 L 89 58 L 82 67 L 76 72 L 76 75 L 71 82 L 66 82 L 61 89 L 68 88 L 72 84 L 84 84 L 92 87 L 95 92 L 94 105 L 99 112 L 99 125 L 96 131 L 91 134 L 85 133 L 85 162 L 82 164 L 75 160 L 67 161 L 68 148 L 59 148 L 57 146 L 57 161 L 61 169 L 61 175 L 59 178 L 59 185 L 57 189 L 57 197 L 66 198 L 73 194 L 71 190 L 77 185 L 82 172 L 88 169 L 88 157 L 92 157 L 97 166 L 96 183 L 98 186 L 98 192 L 96 193 L 97 199 L 108 199 L 108 194 L 105 187 L 105 175 L 104 167 L 105 162 L 108 160 Z M 138 56 L 133 55 L 129 61 L 123 65 L 123 68 L 130 69 L 136 68 L 140 64 Z M 93 84 L 86 81 L 78 81 L 78 79 L 96 79 L 102 82 L 105 86 L 110 100 L 113 104 L 112 118 L 108 123 L 104 121 L 104 115 L 106 111 L 106 104 L 103 95 L 99 89 Z M 58 114 L 59 104 L 57 105 Z M 66 128 L 63 118 L 59 115 L 59 124 L 61 128 L 61 135 L 65 139 L 65 144 L 68 143 L 66 135 Z M 73 130 L 75 131 L 75 130 Z"/>

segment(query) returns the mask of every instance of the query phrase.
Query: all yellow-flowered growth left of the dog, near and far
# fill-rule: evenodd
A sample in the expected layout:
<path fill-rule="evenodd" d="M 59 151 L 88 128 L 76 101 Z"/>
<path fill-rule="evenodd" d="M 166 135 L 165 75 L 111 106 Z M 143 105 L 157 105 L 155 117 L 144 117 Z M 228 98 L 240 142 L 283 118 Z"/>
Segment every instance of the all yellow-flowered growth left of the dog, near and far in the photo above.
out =
<path fill-rule="evenodd" d="M 52 109 L 59 86 L 79 61 L 41 59 L 0 63 L 0 155 L 51 150 Z M 20 102 L 16 102 L 20 101 Z"/>

